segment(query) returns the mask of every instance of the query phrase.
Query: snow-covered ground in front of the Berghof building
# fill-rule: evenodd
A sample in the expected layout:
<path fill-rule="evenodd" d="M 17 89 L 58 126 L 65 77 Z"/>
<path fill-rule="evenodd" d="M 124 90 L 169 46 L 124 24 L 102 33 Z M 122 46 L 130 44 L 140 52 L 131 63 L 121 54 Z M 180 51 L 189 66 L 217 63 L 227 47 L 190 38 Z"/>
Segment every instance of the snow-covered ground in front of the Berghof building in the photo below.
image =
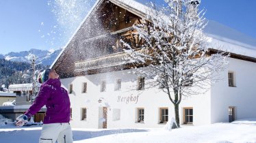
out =
<path fill-rule="evenodd" d="M 35 143 L 40 125 L 31 127 L 0 126 L 0 142 Z M 180 129 L 73 129 L 74 143 L 179 143 L 179 142 L 255 142 L 256 118 Z"/>

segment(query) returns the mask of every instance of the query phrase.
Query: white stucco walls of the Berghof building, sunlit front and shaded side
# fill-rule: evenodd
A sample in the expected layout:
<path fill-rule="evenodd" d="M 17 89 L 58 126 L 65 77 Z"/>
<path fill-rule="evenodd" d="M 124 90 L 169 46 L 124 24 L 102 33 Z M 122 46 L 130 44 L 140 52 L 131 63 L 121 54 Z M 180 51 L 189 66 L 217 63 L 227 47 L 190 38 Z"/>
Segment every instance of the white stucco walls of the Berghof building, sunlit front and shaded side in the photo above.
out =
<path fill-rule="evenodd" d="M 69 89 L 73 127 L 103 128 L 103 107 L 107 107 L 107 128 L 163 127 L 159 123 L 160 108 L 168 108 L 168 118 L 175 117 L 174 106 L 168 95 L 159 89 L 136 90 L 138 77 L 129 70 L 77 76 L 62 79 Z M 228 84 L 228 72 L 235 75 L 235 87 Z M 256 112 L 256 63 L 229 59 L 229 66 L 221 73 L 222 80 L 209 86 L 203 95 L 185 97 L 179 106 L 180 123 L 184 123 L 183 108 L 193 109 L 193 125 L 207 125 L 229 121 L 229 106 L 235 107 L 235 119 L 255 117 Z M 116 80 L 121 80 L 121 89 L 115 91 Z M 101 82 L 106 82 L 101 92 Z M 83 83 L 87 91 L 83 93 Z M 99 103 L 101 100 L 101 103 Z M 86 120 L 81 120 L 82 108 L 86 108 Z M 137 123 L 138 108 L 144 109 L 144 123 Z"/>

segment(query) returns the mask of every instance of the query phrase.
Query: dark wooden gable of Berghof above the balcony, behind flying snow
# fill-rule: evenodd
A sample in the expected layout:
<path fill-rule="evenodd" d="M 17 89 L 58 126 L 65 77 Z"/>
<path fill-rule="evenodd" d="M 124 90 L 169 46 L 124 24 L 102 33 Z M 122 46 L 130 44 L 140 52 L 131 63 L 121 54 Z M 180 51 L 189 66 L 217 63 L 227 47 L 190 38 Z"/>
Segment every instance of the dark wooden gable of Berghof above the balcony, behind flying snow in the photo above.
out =
<path fill-rule="evenodd" d="M 77 30 L 53 65 L 53 69 L 60 74 L 61 78 L 73 77 L 76 61 L 120 52 L 121 37 L 138 42 L 136 35 L 133 34 L 136 31 L 132 26 L 141 22 L 142 18 L 129 10 L 111 1 L 101 1 Z"/>

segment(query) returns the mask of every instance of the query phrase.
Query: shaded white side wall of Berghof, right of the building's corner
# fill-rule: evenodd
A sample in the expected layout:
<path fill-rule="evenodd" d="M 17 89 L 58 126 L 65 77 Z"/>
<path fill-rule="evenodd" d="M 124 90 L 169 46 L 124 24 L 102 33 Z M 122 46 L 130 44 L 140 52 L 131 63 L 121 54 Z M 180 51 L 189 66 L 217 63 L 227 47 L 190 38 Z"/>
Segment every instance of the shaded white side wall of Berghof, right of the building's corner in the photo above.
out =
<path fill-rule="evenodd" d="M 229 87 L 228 72 L 234 72 L 235 87 Z M 228 108 L 235 106 L 235 119 L 256 117 L 256 63 L 229 59 L 221 73 L 223 80 L 214 84 L 212 93 L 212 123 L 228 122 Z"/>

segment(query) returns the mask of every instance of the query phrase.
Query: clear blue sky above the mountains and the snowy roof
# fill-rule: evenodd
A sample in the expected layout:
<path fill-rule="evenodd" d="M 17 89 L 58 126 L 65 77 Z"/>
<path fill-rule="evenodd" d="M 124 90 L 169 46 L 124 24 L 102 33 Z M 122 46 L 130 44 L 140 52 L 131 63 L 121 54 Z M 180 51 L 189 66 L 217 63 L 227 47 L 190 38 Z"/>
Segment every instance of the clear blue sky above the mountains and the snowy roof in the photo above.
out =
<path fill-rule="evenodd" d="M 93 3 L 94 0 L 0 0 L 0 54 L 65 46 Z M 201 7 L 207 10 L 205 17 L 209 20 L 256 39 L 255 0 L 202 0 Z"/>

